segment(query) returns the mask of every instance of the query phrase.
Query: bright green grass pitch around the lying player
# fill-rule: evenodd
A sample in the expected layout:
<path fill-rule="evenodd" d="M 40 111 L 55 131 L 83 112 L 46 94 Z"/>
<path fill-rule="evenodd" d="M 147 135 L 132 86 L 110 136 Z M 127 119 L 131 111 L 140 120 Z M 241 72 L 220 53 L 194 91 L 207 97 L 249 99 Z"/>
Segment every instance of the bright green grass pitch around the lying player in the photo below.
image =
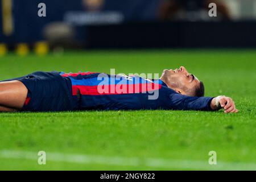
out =
<path fill-rule="evenodd" d="M 256 169 L 256 51 L 85 51 L 0 58 L 1 80 L 34 71 L 162 73 L 184 65 L 206 96 L 240 110 L 0 113 L 0 169 Z M 38 164 L 46 151 L 46 165 Z M 209 151 L 217 165 L 209 165 Z"/>

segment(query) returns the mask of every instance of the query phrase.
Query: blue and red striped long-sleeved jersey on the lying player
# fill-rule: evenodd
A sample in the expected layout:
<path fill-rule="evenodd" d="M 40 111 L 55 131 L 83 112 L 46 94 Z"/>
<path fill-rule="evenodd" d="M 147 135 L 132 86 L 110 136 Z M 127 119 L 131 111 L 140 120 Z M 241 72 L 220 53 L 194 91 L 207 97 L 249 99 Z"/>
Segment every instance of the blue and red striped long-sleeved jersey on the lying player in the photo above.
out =
<path fill-rule="evenodd" d="M 72 95 L 80 110 L 211 110 L 212 97 L 184 96 L 158 79 L 97 72 L 60 75 L 71 80 Z"/>

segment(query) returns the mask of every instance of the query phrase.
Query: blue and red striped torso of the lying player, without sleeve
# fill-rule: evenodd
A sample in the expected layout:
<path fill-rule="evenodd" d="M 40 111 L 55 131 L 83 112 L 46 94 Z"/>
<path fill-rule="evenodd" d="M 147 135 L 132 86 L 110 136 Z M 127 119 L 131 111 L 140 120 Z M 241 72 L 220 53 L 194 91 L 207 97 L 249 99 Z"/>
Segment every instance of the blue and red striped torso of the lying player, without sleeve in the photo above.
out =
<path fill-rule="evenodd" d="M 79 109 L 82 110 L 134 110 L 164 107 L 162 100 L 163 94 L 166 93 L 164 90 L 167 88 L 162 85 L 161 80 L 148 80 L 138 76 L 110 76 L 95 72 L 61 72 L 60 75 L 70 78 L 72 95 L 78 100 Z M 159 97 L 160 94 L 161 97 Z"/>

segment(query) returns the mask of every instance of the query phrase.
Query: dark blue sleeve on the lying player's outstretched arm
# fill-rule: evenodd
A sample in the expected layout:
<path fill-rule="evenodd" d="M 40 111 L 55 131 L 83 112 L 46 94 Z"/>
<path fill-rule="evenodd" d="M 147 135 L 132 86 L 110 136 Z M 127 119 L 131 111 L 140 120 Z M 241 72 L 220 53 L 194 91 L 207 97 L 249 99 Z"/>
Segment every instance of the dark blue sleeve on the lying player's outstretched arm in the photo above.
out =
<path fill-rule="evenodd" d="M 169 95 L 168 106 L 174 110 L 204 110 L 212 111 L 210 102 L 213 97 L 189 97 L 173 93 Z"/>

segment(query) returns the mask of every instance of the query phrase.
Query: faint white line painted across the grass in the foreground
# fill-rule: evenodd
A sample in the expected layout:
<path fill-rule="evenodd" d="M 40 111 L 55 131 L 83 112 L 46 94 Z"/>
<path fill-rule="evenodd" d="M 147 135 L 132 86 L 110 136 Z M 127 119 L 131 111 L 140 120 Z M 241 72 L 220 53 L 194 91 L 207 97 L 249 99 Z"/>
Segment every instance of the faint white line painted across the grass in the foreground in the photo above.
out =
<path fill-rule="evenodd" d="M 0 158 L 30 159 L 37 162 L 39 156 L 38 152 L 2 150 L 0 151 Z M 46 152 L 46 163 L 47 161 L 80 164 L 104 164 L 108 166 L 150 167 L 151 169 L 256 170 L 255 163 L 233 163 L 217 161 L 217 165 L 210 165 L 208 160 L 200 161 L 160 158 L 125 158 L 119 156 L 61 154 L 56 152 Z"/>

